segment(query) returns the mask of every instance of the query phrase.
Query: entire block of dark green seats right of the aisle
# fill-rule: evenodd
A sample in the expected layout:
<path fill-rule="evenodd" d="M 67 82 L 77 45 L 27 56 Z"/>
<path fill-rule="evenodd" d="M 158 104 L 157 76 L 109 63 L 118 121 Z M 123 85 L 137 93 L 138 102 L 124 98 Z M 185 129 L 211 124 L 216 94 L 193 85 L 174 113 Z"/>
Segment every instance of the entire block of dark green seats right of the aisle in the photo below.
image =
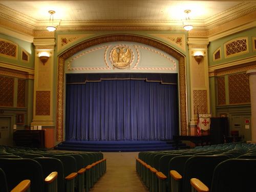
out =
<path fill-rule="evenodd" d="M 256 145 L 238 142 L 140 152 L 136 171 L 152 192 L 254 191 L 250 187 L 256 179 Z"/>

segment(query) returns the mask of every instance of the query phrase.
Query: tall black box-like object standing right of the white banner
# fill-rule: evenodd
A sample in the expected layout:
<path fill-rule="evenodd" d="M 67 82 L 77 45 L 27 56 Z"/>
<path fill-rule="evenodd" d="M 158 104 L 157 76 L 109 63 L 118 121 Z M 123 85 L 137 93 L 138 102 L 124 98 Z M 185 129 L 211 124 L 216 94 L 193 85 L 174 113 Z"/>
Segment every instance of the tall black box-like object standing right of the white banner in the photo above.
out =
<path fill-rule="evenodd" d="M 224 138 L 228 136 L 228 118 L 211 117 L 210 118 L 210 142 L 211 144 L 224 143 Z"/>

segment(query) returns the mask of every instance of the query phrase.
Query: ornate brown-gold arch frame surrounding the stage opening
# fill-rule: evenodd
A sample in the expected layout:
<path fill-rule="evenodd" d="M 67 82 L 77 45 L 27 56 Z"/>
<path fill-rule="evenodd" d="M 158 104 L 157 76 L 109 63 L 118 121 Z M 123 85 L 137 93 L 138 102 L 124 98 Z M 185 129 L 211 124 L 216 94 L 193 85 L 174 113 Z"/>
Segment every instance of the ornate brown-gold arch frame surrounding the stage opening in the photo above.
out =
<path fill-rule="evenodd" d="M 180 134 L 186 135 L 187 133 L 187 101 L 186 101 L 186 74 L 185 74 L 185 57 L 172 47 L 169 47 L 163 44 L 160 41 L 143 37 L 137 35 L 124 35 L 124 34 L 113 34 L 113 35 L 106 35 L 91 38 L 80 42 L 79 44 L 75 45 L 74 47 L 68 49 L 67 51 L 63 52 L 61 55 L 58 56 L 58 77 L 57 77 L 57 121 L 56 121 L 56 136 L 57 141 L 63 141 L 63 102 L 64 102 L 64 78 L 65 78 L 65 71 L 64 65 L 65 60 L 75 53 L 89 48 L 91 46 L 99 45 L 104 42 L 112 42 L 112 41 L 132 41 L 132 42 L 140 42 L 141 44 L 145 44 L 148 46 L 155 47 L 160 49 L 173 57 L 175 57 L 179 61 L 179 101 L 180 101 Z"/>

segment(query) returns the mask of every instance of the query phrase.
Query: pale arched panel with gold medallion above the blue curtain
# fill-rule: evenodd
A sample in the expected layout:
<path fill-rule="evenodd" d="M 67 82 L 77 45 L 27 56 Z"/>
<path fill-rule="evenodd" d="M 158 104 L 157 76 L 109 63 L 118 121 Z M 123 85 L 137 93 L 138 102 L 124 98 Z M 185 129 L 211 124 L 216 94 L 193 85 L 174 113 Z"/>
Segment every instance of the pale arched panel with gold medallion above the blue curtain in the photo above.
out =
<path fill-rule="evenodd" d="M 66 60 L 67 73 L 178 73 L 178 60 L 155 47 L 115 41 L 81 50 Z"/>

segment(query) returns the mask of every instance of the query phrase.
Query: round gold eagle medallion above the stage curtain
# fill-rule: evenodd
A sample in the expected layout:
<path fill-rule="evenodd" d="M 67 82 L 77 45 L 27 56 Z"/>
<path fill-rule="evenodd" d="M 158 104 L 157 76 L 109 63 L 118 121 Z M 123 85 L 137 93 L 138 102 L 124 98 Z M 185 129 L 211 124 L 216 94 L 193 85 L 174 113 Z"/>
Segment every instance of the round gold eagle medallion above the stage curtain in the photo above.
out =
<path fill-rule="evenodd" d="M 130 67 L 133 58 L 132 49 L 125 45 L 117 45 L 110 52 L 110 61 L 118 69 Z"/>

